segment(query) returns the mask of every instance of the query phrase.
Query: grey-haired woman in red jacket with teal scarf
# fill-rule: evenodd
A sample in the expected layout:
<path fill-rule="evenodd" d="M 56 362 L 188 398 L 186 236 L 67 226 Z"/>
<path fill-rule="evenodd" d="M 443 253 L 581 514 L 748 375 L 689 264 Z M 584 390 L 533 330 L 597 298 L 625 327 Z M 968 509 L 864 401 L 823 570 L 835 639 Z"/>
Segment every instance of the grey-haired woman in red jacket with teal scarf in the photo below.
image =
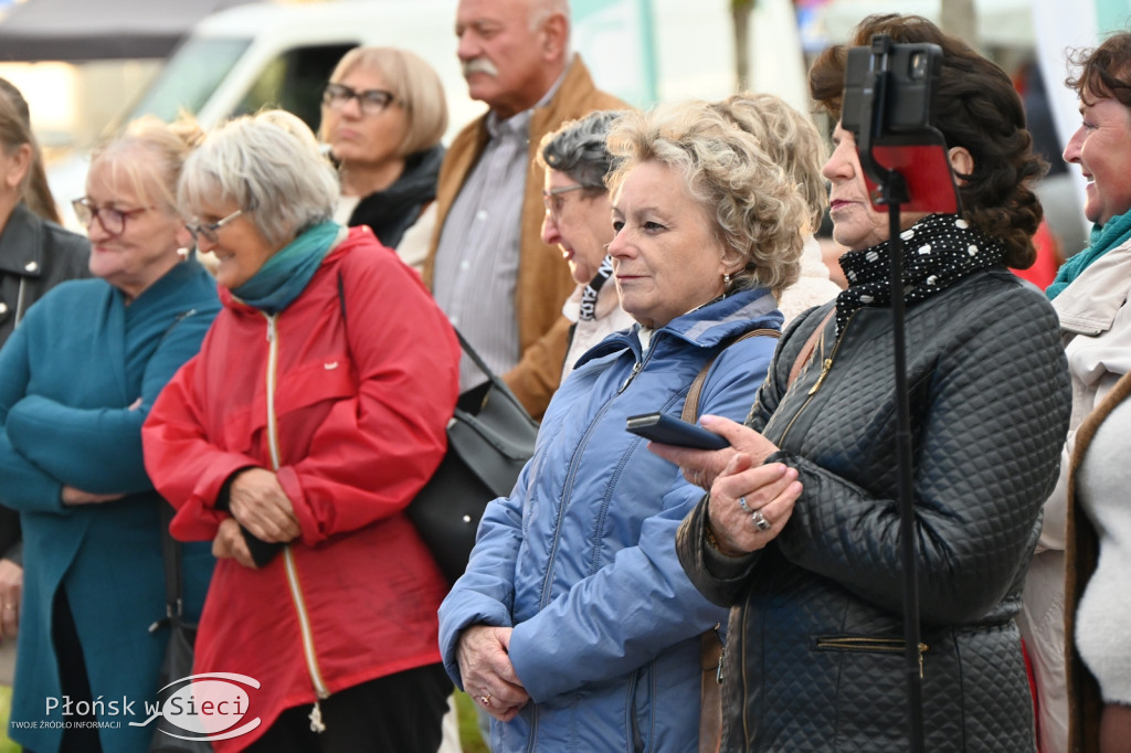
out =
<path fill-rule="evenodd" d="M 223 311 L 146 424 L 173 536 L 219 562 L 195 672 L 248 675 L 250 733 L 217 751 L 428 751 L 451 691 L 443 575 L 404 510 L 440 462 L 459 349 L 418 276 L 282 112 L 213 132 L 182 208 Z"/>

